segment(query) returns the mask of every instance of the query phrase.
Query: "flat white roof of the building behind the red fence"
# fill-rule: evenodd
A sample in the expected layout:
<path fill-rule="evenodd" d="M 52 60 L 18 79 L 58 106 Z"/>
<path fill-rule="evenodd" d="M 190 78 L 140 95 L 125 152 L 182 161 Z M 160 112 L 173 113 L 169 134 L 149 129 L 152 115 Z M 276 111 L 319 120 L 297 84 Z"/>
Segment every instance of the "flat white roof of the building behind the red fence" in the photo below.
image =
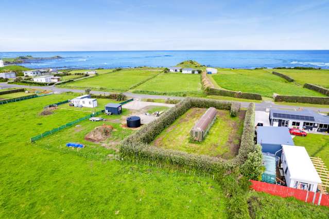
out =
<path fill-rule="evenodd" d="M 286 157 L 287 166 L 291 179 L 303 182 L 317 182 L 321 184 L 321 179 L 317 170 L 309 158 L 304 147 L 282 145 L 283 154 Z"/>

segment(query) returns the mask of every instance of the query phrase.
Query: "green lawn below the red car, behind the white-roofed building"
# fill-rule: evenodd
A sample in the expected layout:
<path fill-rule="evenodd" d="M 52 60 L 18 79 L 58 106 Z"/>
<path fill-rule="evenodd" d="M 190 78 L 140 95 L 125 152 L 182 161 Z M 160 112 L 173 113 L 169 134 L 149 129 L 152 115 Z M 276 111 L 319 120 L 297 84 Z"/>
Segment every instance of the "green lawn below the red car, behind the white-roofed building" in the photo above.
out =
<path fill-rule="evenodd" d="M 307 134 L 293 138 L 295 145 L 304 146 L 309 156 L 320 157 L 329 168 L 329 135 Z"/>

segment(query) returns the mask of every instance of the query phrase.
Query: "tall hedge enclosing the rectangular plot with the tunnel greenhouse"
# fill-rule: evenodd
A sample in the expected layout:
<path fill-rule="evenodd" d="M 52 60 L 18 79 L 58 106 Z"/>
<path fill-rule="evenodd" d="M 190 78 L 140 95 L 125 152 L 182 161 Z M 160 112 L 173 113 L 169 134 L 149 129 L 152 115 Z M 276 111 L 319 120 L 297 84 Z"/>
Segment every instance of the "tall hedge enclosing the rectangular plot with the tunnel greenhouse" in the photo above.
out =
<path fill-rule="evenodd" d="M 226 172 L 234 168 L 236 165 L 243 164 L 243 162 L 248 158 L 247 155 L 252 152 L 252 150 L 256 150 L 256 146 L 253 142 L 254 104 L 250 105 L 246 113 L 247 121 L 245 120 L 244 132 L 241 139 L 241 143 L 243 142 L 243 144 L 240 147 L 238 156 L 233 160 L 226 161 L 216 157 L 188 154 L 181 151 L 157 148 L 153 147 L 149 143 L 191 107 L 215 107 L 217 109 L 230 110 L 231 104 L 231 102 L 226 101 L 185 98 L 176 104 L 175 107 L 170 108 L 160 118 L 149 123 L 148 125 L 143 126 L 133 135 L 128 136 L 120 145 L 120 154 L 124 157 L 127 156 L 137 159 L 155 160 L 181 167 L 193 168 L 199 171 L 211 173 Z M 259 154 L 257 154 L 257 156 L 259 156 Z M 251 168 L 257 169 L 258 166 Z"/>

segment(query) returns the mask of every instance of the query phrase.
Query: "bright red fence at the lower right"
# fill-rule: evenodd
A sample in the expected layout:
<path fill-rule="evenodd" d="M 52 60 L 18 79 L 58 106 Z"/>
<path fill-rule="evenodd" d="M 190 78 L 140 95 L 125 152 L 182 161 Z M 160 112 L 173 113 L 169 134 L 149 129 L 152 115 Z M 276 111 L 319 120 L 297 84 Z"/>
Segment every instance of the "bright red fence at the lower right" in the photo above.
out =
<path fill-rule="evenodd" d="M 315 205 L 322 205 L 329 207 L 329 195 L 314 193 L 301 189 L 293 189 L 285 186 L 269 184 L 261 181 L 251 181 L 251 188 L 257 192 L 266 192 L 271 195 L 278 195 L 281 197 L 295 197 L 303 202 L 314 203 Z M 321 198 L 320 198 L 321 197 Z"/>

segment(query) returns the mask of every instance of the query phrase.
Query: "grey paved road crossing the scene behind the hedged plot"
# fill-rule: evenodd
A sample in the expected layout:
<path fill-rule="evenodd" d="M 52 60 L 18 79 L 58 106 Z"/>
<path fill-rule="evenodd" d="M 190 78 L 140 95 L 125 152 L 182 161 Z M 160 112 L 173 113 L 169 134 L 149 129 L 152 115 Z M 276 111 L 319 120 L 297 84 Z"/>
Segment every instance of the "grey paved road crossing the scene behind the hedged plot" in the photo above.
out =
<path fill-rule="evenodd" d="M 82 89 L 69 89 L 69 88 L 59 88 L 56 86 L 28 86 L 28 85 L 18 85 L 18 84 L 7 84 L 7 83 L 0 83 L 0 90 L 1 88 L 10 88 L 10 87 L 24 87 L 24 88 L 34 88 L 34 89 L 47 89 L 52 90 L 54 92 L 75 92 L 75 93 L 84 93 L 84 90 Z M 111 94 L 113 92 L 101 92 L 98 90 L 92 90 L 91 94 Z M 161 95 L 148 95 L 148 94 L 133 94 L 130 92 L 124 93 L 128 97 L 132 98 L 138 98 L 138 99 L 176 99 L 181 100 L 184 99 L 184 97 L 175 97 L 175 96 L 161 96 Z M 235 101 L 239 102 L 239 101 Z M 250 102 L 239 102 L 241 103 L 242 107 L 248 107 Z M 310 109 L 312 111 L 320 111 L 320 112 L 329 112 L 329 108 L 322 108 L 322 107 L 304 107 L 304 106 L 291 106 L 291 105 L 279 105 L 275 104 L 271 101 L 263 101 L 262 103 L 255 103 L 256 105 L 256 111 L 265 111 L 266 108 L 278 108 L 278 109 L 297 109 L 299 107 L 303 107 L 304 109 Z"/>

